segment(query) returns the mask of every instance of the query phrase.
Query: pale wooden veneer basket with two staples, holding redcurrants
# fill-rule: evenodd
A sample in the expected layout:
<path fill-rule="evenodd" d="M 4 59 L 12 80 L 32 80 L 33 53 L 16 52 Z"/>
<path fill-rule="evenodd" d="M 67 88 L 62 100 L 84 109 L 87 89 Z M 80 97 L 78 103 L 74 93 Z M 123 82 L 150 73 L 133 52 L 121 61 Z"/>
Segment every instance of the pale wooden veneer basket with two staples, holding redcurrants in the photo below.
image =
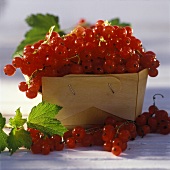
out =
<path fill-rule="evenodd" d="M 62 106 L 67 128 L 103 125 L 107 116 L 134 120 L 142 112 L 148 70 L 139 73 L 42 78 L 42 99 Z"/>

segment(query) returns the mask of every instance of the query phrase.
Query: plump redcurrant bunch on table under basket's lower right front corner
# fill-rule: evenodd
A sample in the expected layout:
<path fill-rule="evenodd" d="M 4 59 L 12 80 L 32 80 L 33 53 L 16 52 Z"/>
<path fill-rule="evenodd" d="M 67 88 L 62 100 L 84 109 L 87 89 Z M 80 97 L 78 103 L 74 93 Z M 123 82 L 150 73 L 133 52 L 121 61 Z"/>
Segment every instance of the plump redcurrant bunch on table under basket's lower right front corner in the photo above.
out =
<path fill-rule="evenodd" d="M 105 124 L 102 133 L 103 148 L 119 156 L 127 149 L 127 142 L 136 138 L 136 126 L 132 121 L 116 121 L 112 117 L 108 117 Z"/>

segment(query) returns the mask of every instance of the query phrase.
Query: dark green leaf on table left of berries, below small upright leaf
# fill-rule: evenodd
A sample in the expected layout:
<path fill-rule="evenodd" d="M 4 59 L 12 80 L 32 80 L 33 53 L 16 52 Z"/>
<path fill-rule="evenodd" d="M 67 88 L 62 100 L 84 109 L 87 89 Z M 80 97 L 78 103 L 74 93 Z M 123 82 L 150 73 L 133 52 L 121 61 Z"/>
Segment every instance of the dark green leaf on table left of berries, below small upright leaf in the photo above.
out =
<path fill-rule="evenodd" d="M 16 128 L 13 128 L 9 133 L 7 142 L 11 155 L 20 147 L 30 149 L 32 144 L 30 133 L 24 129 Z"/>

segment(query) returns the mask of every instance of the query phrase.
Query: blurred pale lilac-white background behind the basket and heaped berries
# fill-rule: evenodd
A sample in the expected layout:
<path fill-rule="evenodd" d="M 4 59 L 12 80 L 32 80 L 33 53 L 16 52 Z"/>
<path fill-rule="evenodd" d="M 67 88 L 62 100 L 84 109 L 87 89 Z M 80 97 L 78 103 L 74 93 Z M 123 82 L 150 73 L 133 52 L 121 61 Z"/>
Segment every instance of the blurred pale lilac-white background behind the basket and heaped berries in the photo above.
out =
<path fill-rule="evenodd" d="M 13 77 L 3 73 L 24 34 L 29 30 L 25 18 L 31 14 L 50 13 L 59 16 L 61 29 L 67 29 L 84 18 L 90 23 L 98 19 L 120 18 L 130 22 L 134 35 L 147 50 L 157 54 L 161 66 L 159 75 L 148 78 L 144 110 L 152 104 L 152 96 L 162 93 L 170 101 L 170 1 L 169 0 L 0 0 L 0 112 L 14 114 L 18 107 L 25 114 L 41 101 L 39 95 L 30 100 L 19 92 L 18 83 L 24 77 L 17 72 Z M 169 109 L 165 104 L 164 109 Z"/>

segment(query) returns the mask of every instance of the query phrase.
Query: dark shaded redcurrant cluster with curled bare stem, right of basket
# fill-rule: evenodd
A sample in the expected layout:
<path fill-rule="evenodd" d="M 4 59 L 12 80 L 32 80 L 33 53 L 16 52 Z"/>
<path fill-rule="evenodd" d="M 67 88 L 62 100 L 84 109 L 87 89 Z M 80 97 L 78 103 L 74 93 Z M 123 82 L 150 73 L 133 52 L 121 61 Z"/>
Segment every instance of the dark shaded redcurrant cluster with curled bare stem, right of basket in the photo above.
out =
<path fill-rule="evenodd" d="M 163 109 L 159 110 L 155 105 L 156 95 L 161 94 L 155 94 L 153 96 L 153 105 L 149 106 L 148 111 L 143 112 L 135 120 L 139 136 L 143 137 L 148 133 L 160 133 L 164 135 L 170 133 L 170 117 L 168 116 L 167 111 Z"/>

